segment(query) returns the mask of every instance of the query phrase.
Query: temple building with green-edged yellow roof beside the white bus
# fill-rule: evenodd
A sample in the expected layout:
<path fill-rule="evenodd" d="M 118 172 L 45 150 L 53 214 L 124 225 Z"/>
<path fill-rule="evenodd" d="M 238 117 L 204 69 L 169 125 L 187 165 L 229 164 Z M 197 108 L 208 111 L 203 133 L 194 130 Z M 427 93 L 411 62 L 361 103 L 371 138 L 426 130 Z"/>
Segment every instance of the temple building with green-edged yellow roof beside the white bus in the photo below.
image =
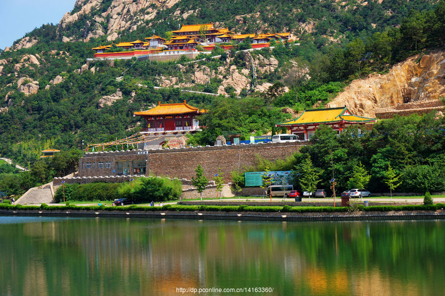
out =
<path fill-rule="evenodd" d="M 276 127 L 287 127 L 299 140 L 309 140 L 320 124 L 329 125 L 337 133 L 354 124 L 377 122 L 375 118 L 354 115 L 348 108 L 327 108 L 306 110 L 296 119 L 275 124 Z"/>

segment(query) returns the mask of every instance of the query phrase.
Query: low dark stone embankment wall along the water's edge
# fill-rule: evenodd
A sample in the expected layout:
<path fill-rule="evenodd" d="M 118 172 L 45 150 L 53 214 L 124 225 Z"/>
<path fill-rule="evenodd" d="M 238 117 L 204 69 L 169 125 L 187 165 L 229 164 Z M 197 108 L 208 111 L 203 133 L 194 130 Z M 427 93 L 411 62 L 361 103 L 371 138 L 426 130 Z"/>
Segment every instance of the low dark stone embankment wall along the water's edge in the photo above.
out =
<path fill-rule="evenodd" d="M 445 219 L 445 210 L 389 211 L 389 212 L 213 212 L 213 211 L 102 211 L 102 210 L 24 210 L 1 209 L 5 216 L 39 217 L 116 217 L 231 221 L 359 221 L 359 220 L 437 220 Z"/>

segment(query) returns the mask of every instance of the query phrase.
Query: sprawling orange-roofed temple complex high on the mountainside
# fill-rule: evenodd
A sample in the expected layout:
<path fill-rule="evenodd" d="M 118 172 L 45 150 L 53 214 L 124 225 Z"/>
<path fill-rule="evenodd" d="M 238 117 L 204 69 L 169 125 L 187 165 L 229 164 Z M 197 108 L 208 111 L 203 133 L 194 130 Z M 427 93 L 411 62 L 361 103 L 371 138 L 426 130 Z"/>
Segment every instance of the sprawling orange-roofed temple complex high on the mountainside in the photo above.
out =
<path fill-rule="evenodd" d="M 269 41 L 287 42 L 290 33 L 267 33 L 267 34 L 234 34 L 227 28 L 217 29 L 210 24 L 182 25 L 179 30 L 172 31 L 174 34 L 169 40 L 153 35 L 144 38 L 145 41 L 135 40 L 131 42 L 111 43 L 91 48 L 95 50 L 94 58 L 127 57 L 148 54 L 182 54 L 190 51 L 198 51 L 200 45 L 202 50 L 211 51 L 216 46 L 230 49 L 233 44 L 238 44 L 251 39 L 253 48 L 268 47 Z M 229 43 L 229 44 L 227 44 Z"/>

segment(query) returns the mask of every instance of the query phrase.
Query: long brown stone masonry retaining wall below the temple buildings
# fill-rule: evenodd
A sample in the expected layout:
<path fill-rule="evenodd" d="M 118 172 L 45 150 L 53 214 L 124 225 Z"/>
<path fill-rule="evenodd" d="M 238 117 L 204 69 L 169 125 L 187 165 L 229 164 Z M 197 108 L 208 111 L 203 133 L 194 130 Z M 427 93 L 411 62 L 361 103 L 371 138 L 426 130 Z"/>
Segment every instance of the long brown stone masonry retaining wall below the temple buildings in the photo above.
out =
<path fill-rule="evenodd" d="M 150 175 L 188 180 L 196 175 L 195 169 L 198 164 L 202 166 L 205 176 L 209 179 L 213 179 L 218 168 L 221 167 L 224 181 L 229 182 L 230 172 L 243 166 L 254 165 L 257 154 L 268 160 L 285 159 L 307 144 L 307 142 L 257 143 L 197 148 L 88 152 L 79 161 L 78 177 L 86 180 L 94 179 L 94 181 L 99 181 L 100 178 L 123 178 L 116 177 L 116 161 L 138 160 L 146 162 L 146 171 Z M 98 168 L 99 162 L 104 163 L 103 168 Z M 110 168 L 105 168 L 106 162 L 110 162 Z M 87 163 L 91 163 L 91 168 L 86 168 Z M 121 180 L 119 179 L 119 181 Z"/>

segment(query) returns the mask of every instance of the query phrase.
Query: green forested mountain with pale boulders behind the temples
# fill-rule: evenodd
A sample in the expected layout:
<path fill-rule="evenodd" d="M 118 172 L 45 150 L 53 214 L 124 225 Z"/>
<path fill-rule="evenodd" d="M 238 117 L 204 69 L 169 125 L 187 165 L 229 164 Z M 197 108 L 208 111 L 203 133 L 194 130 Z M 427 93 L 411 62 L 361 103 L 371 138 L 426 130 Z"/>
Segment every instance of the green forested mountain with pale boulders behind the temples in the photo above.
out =
<path fill-rule="evenodd" d="M 21 163 L 34 162 L 44 148 L 80 148 L 82 140 L 97 143 L 129 136 L 141 123 L 133 111 L 159 101 L 186 99 L 197 106 L 218 107 L 225 100 L 179 89 L 240 96 L 246 106 L 253 102 L 258 107 L 248 110 L 248 128 L 216 118 L 220 128 L 213 132 L 265 132 L 285 118 L 279 112 L 283 107 L 298 111 L 323 106 L 351 81 L 360 85 L 368 75 L 374 75 L 376 85 L 379 79 L 394 83 L 397 75 L 375 75 L 410 56 L 440 52 L 444 3 L 77 0 L 59 24 L 43 25 L 0 52 L 0 153 Z M 297 41 L 250 53 L 215 52 L 222 57 L 197 62 L 86 60 L 99 44 L 153 33 L 165 37 L 181 24 L 210 22 L 237 33 L 290 32 Z M 303 79 L 296 81 L 295 73 Z M 429 79 L 443 86 L 440 74 Z M 333 102 L 350 104 L 356 94 Z M 378 107 L 396 104 L 391 96 L 383 93 L 386 103 Z M 200 141 L 210 142 L 211 136 Z"/>

